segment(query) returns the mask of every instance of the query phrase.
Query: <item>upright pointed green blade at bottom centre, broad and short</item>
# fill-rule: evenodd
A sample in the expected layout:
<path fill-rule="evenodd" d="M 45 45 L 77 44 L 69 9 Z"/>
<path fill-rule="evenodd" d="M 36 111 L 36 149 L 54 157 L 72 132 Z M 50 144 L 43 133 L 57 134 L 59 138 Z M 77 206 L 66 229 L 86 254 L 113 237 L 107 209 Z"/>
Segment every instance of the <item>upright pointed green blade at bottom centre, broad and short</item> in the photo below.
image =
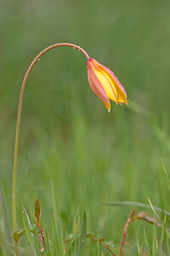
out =
<path fill-rule="evenodd" d="M 87 219 L 86 213 L 84 212 L 82 218 L 82 231 L 78 242 L 78 256 L 85 255 L 86 249 L 86 234 L 87 234 Z"/>

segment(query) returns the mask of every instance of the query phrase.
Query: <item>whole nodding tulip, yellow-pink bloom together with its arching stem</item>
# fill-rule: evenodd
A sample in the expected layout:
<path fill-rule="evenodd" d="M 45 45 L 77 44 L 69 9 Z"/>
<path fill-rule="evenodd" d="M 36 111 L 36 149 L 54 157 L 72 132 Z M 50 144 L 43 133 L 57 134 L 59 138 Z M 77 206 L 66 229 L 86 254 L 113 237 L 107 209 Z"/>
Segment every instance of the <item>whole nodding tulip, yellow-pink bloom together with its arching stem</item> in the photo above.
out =
<path fill-rule="evenodd" d="M 89 84 L 94 90 L 94 93 L 99 96 L 99 98 L 104 102 L 105 107 L 108 111 L 111 111 L 111 101 L 117 103 L 126 103 L 127 104 L 127 93 L 126 90 L 122 87 L 122 84 L 118 81 L 114 73 L 111 70 L 103 65 L 101 65 L 98 61 L 91 59 L 88 53 L 82 49 L 82 47 L 76 44 L 70 43 L 59 43 L 52 44 L 48 46 L 46 49 L 43 49 L 31 62 L 28 67 L 25 77 L 22 82 L 21 90 L 20 90 L 20 101 L 18 107 L 17 114 L 17 124 L 16 124 L 16 136 L 15 136 L 15 144 L 14 144 L 14 171 L 13 171 L 13 227 L 14 232 L 17 230 L 16 224 L 16 177 L 17 177 L 17 166 L 18 166 L 18 154 L 19 154 L 19 142 L 20 142 L 20 119 L 22 112 L 22 102 L 24 97 L 24 92 L 26 88 L 26 81 L 31 73 L 32 68 L 40 60 L 42 55 L 44 55 L 48 50 L 54 49 L 60 46 L 69 46 L 73 49 L 78 49 L 82 52 L 83 55 L 87 58 L 87 66 L 88 66 L 88 81 Z M 17 252 L 17 247 L 16 247 Z M 16 253 L 17 254 L 17 253 Z"/>

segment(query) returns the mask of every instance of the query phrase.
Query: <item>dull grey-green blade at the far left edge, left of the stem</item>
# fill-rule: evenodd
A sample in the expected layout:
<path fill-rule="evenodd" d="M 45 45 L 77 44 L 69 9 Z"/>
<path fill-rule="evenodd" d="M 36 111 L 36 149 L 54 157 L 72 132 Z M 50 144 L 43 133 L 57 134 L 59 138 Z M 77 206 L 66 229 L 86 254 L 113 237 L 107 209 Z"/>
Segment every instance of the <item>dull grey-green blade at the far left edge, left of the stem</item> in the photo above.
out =
<path fill-rule="evenodd" d="M 1 183 L 1 181 L 0 181 L 0 201 L 1 201 L 1 207 L 3 212 L 3 230 L 5 234 L 5 239 L 9 243 L 11 243 L 11 235 L 10 235 L 9 223 L 8 223 L 8 213 L 7 213 L 6 203 L 5 203 L 5 196 L 3 192 L 3 184 Z M 8 246 L 7 246 L 7 250 L 8 250 L 8 255 L 12 255 Z"/>

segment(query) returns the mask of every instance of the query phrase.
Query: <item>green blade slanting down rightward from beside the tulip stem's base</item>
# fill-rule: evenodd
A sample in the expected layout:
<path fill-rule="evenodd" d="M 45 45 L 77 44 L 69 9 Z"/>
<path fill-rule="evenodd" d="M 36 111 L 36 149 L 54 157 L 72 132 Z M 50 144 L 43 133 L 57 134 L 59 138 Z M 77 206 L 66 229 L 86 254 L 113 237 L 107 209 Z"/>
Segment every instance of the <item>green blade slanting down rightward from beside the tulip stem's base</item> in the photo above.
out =
<path fill-rule="evenodd" d="M 26 235 L 28 237 L 28 240 L 30 241 L 31 249 L 32 249 L 34 255 L 37 256 L 34 237 L 31 235 L 31 230 L 29 228 L 28 220 L 26 218 L 26 213 L 25 213 L 26 210 L 24 209 L 24 207 L 22 207 L 18 194 L 17 194 L 17 197 L 18 197 L 18 201 L 19 201 L 19 204 L 20 204 L 20 211 L 21 211 L 21 215 L 22 215 L 22 220 L 23 220 L 23 223 L 24 223 L 24 226 L 25 226 L 25 229 L 26 229 Z"/>

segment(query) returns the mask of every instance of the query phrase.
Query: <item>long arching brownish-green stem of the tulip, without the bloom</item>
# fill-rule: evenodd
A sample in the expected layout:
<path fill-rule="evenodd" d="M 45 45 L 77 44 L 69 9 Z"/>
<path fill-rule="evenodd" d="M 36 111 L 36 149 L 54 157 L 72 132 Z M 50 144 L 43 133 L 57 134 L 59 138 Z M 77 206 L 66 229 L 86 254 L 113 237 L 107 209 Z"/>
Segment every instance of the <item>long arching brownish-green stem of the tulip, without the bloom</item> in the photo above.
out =
<path fill-rule="evenodd" d="M 72 48 L 76 48 L 82 51 L 82 53 L 86 56 L 87 59 L 89 59 L 89 55 L 87 52 L 82 49 L 80 46 L 77 46 L 76 44 L 68 44 L 68 43 L 60 43 L 60 44 L 53 44 L 48 46 L 48 48 L 43 49 L 37 57 L 31 62 L 30 67 L 28 67 L 26 71 L 26 75 L 24 77 L 24 80 L 22 82 L 21 90 L 20 90 L 20 101 L 18 106 L 18 115 L 17 115 L 17 124 L 16 124 L 16 135 L 15 135 L 15 144 L 14 144 L 14 172 L 13 172 L 13 195 L 12 195 L 12 201 L 13 201 L 13 228 L 14 231 L 16 230 L 16 175 L 17 175 L 17 163 L 18 163 L 18 154 L 19 154 L 19 138 L 20 138 L 20 117 L 21 117 L 21 111 L 22 111 L 22 102 L 23 102 L 23 96 L 24 91 L 26 87 L 26 81 L 28 79 L 29 74 L 31 73 L 32 67 L 36 64 L 38 59 L 44 55 L 48 50 L 54 49 L 59 46 L 69 46 Z"/>

